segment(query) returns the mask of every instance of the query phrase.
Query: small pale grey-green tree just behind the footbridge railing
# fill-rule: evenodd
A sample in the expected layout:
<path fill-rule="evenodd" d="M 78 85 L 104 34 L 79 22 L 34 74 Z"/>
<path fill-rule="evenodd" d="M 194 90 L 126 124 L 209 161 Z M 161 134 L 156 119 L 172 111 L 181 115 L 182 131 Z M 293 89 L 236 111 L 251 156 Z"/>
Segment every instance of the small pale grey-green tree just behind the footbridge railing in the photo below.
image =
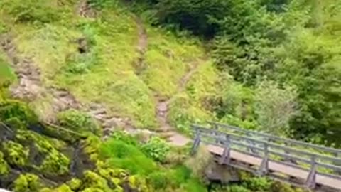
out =
<path fill-rule="evenodd" d="M 297 114 L 296 90 L 278 87 L 276 82 L 260 82 L 256 87 L 255 112 L 262 129 L 272 134 L 287 134 L 289 120 Z"/>

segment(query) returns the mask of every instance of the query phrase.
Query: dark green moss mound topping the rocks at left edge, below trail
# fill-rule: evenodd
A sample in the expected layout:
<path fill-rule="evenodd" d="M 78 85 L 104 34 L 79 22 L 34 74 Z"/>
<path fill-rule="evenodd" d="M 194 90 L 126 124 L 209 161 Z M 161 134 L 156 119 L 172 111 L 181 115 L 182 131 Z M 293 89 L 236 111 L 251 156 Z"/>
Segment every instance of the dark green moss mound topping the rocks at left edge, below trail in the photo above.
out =
<path fill-rule="evenodd" d="M 25 125 L 36 124 L 38 117 L 24 102 L 16 100 L 0 101 L 0 119 L 17 118 Z"/>

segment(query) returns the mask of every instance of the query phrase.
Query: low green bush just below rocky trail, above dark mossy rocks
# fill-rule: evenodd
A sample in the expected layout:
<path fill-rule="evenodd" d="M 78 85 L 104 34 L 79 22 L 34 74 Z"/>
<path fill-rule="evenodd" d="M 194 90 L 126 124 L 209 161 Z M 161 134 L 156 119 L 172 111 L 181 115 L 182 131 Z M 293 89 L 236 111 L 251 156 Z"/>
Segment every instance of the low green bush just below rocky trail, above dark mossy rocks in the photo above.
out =
<path fill-rule="evenodd" d="M 100 134 L 99 125 L 89 114 L 78 110 L 67 110 L 58 114 L 58 121 L 63 127 L 75 132 L 92 132 Z"/>

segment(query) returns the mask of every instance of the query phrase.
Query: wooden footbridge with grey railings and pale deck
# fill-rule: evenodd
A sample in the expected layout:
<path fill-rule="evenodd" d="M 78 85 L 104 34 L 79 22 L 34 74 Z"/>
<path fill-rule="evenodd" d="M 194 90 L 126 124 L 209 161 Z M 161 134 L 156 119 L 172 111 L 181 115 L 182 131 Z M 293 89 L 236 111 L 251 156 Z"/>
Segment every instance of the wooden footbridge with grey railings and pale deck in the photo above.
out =
<path fill-rule="evenodd" d="M 193 153 L 204 143 L 220 164 L 294 186 L 341 191 L 341 150 L 225 124 L 192 126 Z"/>

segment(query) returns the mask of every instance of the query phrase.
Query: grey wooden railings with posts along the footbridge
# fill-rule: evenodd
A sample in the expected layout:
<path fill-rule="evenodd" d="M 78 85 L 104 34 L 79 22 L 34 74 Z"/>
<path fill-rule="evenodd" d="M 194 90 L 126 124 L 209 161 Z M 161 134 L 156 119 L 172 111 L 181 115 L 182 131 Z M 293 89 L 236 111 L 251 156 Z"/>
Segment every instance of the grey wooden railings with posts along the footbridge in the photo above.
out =
<path fill-rule="evenodd" d="M 253 171 L 258 175 L 268 174 L 269 171 L 271 171 L 269 170 L 269 161 L 301 169 L 309 173 L 305 178 L 304 184 L 310 188 L 314 188 L 316 185 L 316 174 L 337 178 L 340 179 L 341 182 L 341 176 L 335 174 L 341 173 L 341 166 L 338 166 L 341 165 L 340 158 L 319 154 L 313 151 L 301 150 L 300 148 L 293 147 L 293 144 L 301 147 L 309 146 L 313 149 L 332 153 L 339 153 L 340 150 L 338 149 L 307 144 L 292 139 L 283 139 L 270 134 L 253 131 L 251 131 L 252 134 L 250 134 L 249 131 L 237 127 L 232 127 L 232 131 L 229 131 L 226 130 L 229 129 L 229 126 L 225 127 L 222 124 L 213 125 L 222 127 L 223 129 L 219 129 L 219 127 L 213 127 L 214 129 L 212 129 L 212 127 L 206 128 L 193 125 L 192 128 L 195 131 L 193 150 L 197 148 L 200 142 L 220 146 L 224 149 L 220 159 L 220 163 L 222 164 L 230 164 L 232 150 L 254 156 L 261 159 L 258 169 L 249 170 L 249 168 L 246 167 L 239 168 Z M 240 132 L 244 134 L 240 134 Z"/>

